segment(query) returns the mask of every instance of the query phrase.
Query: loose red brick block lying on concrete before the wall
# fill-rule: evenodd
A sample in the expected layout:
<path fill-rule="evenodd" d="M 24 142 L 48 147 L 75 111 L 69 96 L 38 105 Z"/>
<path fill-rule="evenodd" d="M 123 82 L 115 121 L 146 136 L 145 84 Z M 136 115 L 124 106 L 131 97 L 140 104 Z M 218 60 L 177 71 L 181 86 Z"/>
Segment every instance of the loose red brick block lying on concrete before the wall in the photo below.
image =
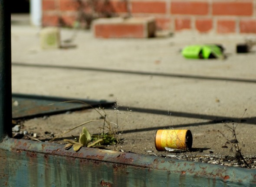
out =
<path fill-rule="evenodd" d="M 154 37 L 154 18 L 101 18 L 93 22 L 96 38 L 149 38 Z"/>

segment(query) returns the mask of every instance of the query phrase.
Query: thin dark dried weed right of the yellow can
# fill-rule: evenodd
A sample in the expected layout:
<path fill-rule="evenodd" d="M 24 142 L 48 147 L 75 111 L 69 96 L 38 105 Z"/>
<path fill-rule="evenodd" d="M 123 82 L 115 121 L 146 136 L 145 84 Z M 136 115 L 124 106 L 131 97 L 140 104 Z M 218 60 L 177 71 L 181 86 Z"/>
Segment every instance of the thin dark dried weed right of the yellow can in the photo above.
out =
<path fill-rule="evenodd" d="M 244 113 L 243 113 L 243 116 L 244 116 L 244 114 L 246 113 L 246 110 L 247 109 L 245 109 L 245 111 L 244 111 Z M 243 118 L 243 116 L 242 116 L 242 118 Z M 244 157 L 243 157 L 243 155 L 242 155 L 242 148 L 240 148 L 239 147 L 239 141 L 237 140 L 237 137 L 236 137 L 236 135 L 237 135 L 237 133 L 236 133 L 236 127 L 238 126 L 238 124 L 237 125 L 235 125 L 234 123 L 232 123 L 232 126 L 230 126 L 229 124 L 227 124 L 227 123 L 224 123 L 224 126 L 232 133 L 232 137 L 233 137 L 233 139 L 228 139 L 227 137 L 226 137 L 226 135 L 223 133 L 223 132 L 220 132 L 219 130 L 218 130 L 218 132 L 220 132 L 220 134 L 221 135 L 223 135 L 223 137 L 226 139 L 226 143 L 225 143 L 225 147 L 227 147 L 227 145 L 230 145 L 230 152 L 235 152 L 235 158 L 236 158 L 236 161 L 237 161 L 237 163 L 240 165 L 240 166 L 242 166 L 243 164 L 245 164 L 245 166 L 247 167 L 247 168 L 251 168 L 250 166 L 249 166 L 249 164 L 246 162 L 246 160 L 244 159 Z"/>

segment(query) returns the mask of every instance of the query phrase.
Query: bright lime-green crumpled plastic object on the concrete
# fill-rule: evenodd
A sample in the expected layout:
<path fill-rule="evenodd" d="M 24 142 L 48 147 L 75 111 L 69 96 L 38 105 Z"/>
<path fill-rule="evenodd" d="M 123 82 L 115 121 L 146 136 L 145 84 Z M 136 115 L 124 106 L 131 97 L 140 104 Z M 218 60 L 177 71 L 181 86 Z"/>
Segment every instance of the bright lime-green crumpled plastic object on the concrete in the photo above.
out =
<path fill-rule="evenodd" d="M 223 58 L 218 45 L 189 45 L 182 50 L 182 55 L 185 58 Z"/>

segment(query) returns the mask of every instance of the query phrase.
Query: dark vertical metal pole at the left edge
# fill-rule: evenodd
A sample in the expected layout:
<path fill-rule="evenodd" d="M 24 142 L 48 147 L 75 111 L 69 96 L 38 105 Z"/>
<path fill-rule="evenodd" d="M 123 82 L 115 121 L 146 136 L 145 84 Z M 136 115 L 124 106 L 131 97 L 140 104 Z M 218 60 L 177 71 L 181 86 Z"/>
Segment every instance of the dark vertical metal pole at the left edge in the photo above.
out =
<path fill-rule="evenodd" d="M 10 0 L 0 0 L 0 142 L 12 134 Z"/>

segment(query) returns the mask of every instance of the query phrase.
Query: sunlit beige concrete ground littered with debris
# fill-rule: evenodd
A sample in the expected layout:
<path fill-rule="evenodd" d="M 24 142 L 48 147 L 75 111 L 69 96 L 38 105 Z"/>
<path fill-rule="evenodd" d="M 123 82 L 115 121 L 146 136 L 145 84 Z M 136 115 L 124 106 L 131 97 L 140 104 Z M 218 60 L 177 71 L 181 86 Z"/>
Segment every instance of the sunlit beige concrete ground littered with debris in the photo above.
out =
<path fill-rule="evenodd" d="M 119 131 L 124 131 L 122 138 L 126 139 L 122 150 L 142 154 L 168 154 L 155 149 L 154 135 L 157 129 L 173 127 L 190 129 L 192 147 L 205 154 L 211 150 L 233 155 L 230 145 L 222 148 L 226 139 L 218 131 L 233 139 L 221 122 L 232 126 L 234 121 L 242 153 L 256 156 L 256 48 L 236 54 L 236 44 L 255 35 L 182 32 L 152 39 L 96 39 L 91 31 L 61 29 L 62 41 L 73 38 L 71 47 L 43 50 L 40 28 L 29 26 L 20 16 L 13 16 L 12 23 L 13 93 L 117 98 L 119 105 L 132 110 L 118 113 Z M 180 53 L 186 45 L 206 43 L 222 44 L 227 58 L 191 60 Z M 106 112 L 116 122 L 114 109 Z M 94 110 L 85 110 L 31 119 L 23 128 L 44 139 L 45 131 L 57 135 L 98 117 Z M 87 127 L 98 133 L 102 124 Z M 66 136 L 78 136 L 80 131 Z M 193 154 L 203 153 L 195 149 Z"/>

